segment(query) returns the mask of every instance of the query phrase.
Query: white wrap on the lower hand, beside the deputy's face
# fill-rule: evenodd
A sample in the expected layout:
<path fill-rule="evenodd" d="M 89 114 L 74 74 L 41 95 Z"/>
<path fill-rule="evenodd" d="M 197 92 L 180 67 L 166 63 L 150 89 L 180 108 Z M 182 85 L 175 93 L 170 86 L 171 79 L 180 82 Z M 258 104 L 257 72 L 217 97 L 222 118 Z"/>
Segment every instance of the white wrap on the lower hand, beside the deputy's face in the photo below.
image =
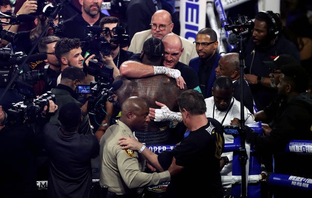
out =
<path fill-rule="evenodd" d="M 160 109 L 155 109 L 155 122 L 161 121 L 182 121 L 182 115 L 180 112 L 173 112 L 167 106 L 163 106 Z"/>

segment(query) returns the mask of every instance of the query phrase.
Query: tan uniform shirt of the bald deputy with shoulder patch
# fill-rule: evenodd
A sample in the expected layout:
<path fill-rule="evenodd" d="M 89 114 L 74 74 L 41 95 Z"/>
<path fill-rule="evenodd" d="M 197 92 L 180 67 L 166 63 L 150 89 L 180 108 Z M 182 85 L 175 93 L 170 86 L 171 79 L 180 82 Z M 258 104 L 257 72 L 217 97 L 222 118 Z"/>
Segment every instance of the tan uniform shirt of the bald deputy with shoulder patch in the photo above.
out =
<path fill-rule="evenodd" d="M 142 192 L 143 186 L 170 181 L 169 171 L 144 173 L 145 160 L 137 151 L 122 150 L 117 145 L 121 137 L 135 137 L 121 121 L 110 126 L 100 140 L 100 185 L 117 195 Z"/>

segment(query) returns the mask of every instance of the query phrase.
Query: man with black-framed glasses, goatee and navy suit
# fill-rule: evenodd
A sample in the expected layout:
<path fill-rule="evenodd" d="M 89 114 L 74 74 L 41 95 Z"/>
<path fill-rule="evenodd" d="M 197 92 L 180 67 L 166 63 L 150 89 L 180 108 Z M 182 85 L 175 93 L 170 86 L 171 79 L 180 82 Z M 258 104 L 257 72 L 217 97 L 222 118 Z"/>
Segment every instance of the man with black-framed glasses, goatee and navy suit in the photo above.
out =
<path fill-rule="evenodd" d="M 215 82 L 215 68 L 221 56 L 217 53 L 218 40 L 216 33 L 211 28 L 203 28 L 198 31 L 196 41 L 194 41 L 198 57 L 190 61 L 192 67 L 198 75 L 199 87 L 204 98 L 212 96 L 211 89 Z"/>

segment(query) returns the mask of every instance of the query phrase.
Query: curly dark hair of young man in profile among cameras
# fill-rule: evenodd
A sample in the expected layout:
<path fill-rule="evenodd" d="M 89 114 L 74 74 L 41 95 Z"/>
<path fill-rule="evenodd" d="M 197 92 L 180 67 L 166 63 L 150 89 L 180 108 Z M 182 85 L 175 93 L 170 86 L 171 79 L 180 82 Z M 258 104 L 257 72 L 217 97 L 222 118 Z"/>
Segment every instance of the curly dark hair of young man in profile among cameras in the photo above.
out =
<path fill-rule="evenodd" d="M 81 47 L 80 40 L 78 38 L 61 38 L 55 45 L 55 55 L 59 62 L 61 57 L 68 54 L 72 49 Z"/>

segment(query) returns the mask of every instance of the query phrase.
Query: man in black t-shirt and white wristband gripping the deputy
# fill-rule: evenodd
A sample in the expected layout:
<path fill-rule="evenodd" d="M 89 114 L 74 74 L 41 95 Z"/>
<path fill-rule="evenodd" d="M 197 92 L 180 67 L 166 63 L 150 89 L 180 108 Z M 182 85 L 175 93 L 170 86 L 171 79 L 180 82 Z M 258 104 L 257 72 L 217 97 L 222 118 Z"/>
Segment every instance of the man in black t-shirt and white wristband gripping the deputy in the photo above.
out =
<path fill-rule="evenodd" d="M 177 102 L 183 123 L 191 132 L 172 151 L 157 155 L 128 137 L 120 138 L 117 144 L 122 149 L 138 151 L 158 171 L 176 171 L 167 187 L 166 197 L 202 197 L 204 189 L 208 192 L 207 198 L 223 198 L 220 158 L 224 148 L 224 129 L 215 119 L 206 118 L 204 97 L 198 91 L 182 92 Z M 187 188 L 183 189 L 184 186 Z"/>

